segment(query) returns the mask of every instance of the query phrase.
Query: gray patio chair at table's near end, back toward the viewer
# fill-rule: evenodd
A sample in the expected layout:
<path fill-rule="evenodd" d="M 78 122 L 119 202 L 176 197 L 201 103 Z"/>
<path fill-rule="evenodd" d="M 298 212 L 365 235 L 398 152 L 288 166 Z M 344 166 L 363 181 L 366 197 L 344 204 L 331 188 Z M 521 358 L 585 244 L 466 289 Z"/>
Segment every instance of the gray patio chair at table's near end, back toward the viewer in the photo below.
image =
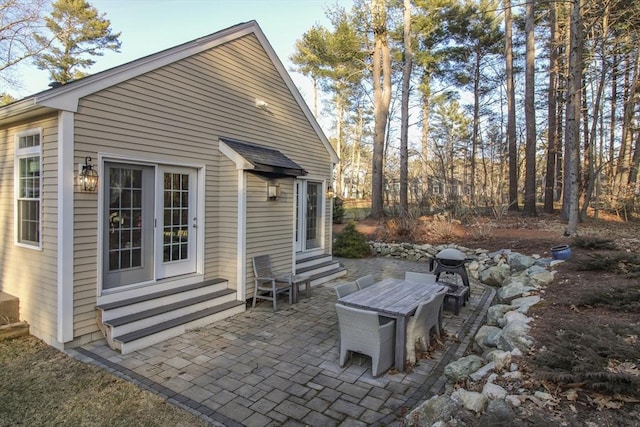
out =
<path fill-rule="evenodd" d="M 374 377 L 389 369 L 395 354 L 395 320 L 380 325 L 378 313 L 336 304 L 340 324 L 340 367 L 352 352 L 371 357 Z"/>

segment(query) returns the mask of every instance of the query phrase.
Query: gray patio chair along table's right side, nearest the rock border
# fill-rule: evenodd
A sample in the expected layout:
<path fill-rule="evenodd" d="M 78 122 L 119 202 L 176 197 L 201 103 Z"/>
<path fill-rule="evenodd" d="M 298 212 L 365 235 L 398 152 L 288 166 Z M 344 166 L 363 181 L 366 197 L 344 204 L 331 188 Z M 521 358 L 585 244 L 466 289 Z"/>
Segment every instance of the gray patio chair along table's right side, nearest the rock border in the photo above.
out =
<path fill-rule="evenodd" d="M 431 330 L 435 329 L 436 336 L 440 337 L 442 324 L 442 305 L 447 288 L 432 294 L 429 299 L 418 305 L 416 314 L 407 321 L 407 360 L 416 362 L 416 347 L 420 351 L 426 351 L 431 344 Z"/>

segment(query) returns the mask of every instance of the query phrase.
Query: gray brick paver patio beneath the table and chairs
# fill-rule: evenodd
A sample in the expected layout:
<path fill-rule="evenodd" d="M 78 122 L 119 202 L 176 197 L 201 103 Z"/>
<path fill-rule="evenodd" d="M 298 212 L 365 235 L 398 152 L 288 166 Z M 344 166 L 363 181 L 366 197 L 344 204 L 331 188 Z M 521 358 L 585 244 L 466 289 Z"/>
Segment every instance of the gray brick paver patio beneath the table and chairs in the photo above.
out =
<path fill-rule="evenodd" d="M 424 263 L 388 258 L 341 260 L 348 275 L 402 277 L 428 271 Z M 444 367 L 465 354 L 484 323 L 494 290 L 472 283 L 459 316 L 445 310 L 444 349 L 404 373 L 371 375 L 371 360 L 354 356 L 338 365 L 335 283 L 314 287 L 298 304 L 270 302 L 254 310 L 189 331 L 140 351 L 121 355 L 98 342 L 69 350 L 169 402 L 225 426 L 400 425 L 423 400 L 440 392 Z M 304 293 L 303 293 L 304 295 Z"/>

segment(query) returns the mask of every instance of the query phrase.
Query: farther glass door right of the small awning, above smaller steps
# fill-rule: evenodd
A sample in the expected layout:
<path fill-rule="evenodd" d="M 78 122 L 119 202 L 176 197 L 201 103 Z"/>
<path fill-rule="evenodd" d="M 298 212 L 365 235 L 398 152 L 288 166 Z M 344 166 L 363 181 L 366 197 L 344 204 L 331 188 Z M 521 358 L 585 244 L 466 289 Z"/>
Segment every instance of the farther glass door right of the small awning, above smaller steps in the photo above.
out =
<path fill-rule="evenodd" d="M 322 247 L 322 183 L 296 181 L 296 251 Z"/>

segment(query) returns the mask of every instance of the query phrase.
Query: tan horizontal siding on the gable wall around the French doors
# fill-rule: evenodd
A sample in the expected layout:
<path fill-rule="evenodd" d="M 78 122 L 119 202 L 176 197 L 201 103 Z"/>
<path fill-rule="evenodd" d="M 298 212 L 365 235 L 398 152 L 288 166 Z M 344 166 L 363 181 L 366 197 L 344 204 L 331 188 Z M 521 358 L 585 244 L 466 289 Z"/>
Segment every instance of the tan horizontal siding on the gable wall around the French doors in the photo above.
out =
<path fill-rule="evenodd" d="M 256 98 L 270 113 L 255 107 Z M 204 275 L 226 278 L 231 288 L 237 287 L 237 172 L 222 164 L 218 138 L 273 147 L 309 174 L 329 178 L 329 153 L 253 35 L 89 95 L 74 120 L 76 163 L 102 154 L 206 168 Z M 250 179 L 247 206 L 248 292 L 251 255 L 274 254 L 278 267 L 290 270 L 294 244 L 293 180 L 281 183 L 289 188 L 286 199 L 269 203 L 258 181 Z M 75 193 L 76 338 L 98 330 L 98 197 Z"/>

